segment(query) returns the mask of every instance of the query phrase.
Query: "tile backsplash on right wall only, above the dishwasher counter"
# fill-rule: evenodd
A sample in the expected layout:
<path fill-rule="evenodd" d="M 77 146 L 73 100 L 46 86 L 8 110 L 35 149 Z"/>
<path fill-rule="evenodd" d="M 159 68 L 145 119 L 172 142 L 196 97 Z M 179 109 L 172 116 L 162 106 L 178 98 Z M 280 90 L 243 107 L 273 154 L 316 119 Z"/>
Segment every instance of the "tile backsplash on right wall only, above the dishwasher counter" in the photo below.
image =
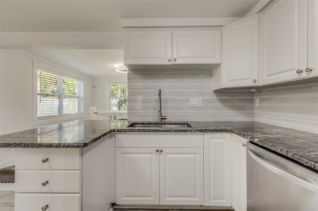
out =
<path fill-rule="evenodd" d="M 255 121 L 318 133 L 318 83 L 264 89 L 254 98 Z"/>

